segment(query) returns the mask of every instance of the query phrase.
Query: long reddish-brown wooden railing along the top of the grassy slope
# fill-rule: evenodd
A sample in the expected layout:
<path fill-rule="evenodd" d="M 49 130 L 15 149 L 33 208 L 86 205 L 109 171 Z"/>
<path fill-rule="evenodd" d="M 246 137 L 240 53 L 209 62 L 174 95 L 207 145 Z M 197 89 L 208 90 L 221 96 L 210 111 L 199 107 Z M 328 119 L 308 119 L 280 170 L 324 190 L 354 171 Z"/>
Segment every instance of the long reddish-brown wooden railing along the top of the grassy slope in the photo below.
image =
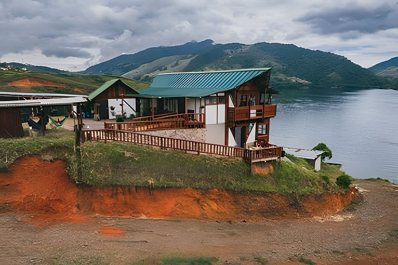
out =
<path fill-rule="evenodd" d="M 147 135 L 131 131 L 114 129 L 82 130 L 82 142 L 85 141 L 120 141 L 136 144 L 159 146 L 161 148 L 179 149 L 200 153 L 209 153 L 223 156 L 243 157 L 252 161 L 266 161 L 280 157 L 281 147 L 274 146 L 262 149 L 245 149 L 241 147 L 204 143 L 177 138 Z"/>

